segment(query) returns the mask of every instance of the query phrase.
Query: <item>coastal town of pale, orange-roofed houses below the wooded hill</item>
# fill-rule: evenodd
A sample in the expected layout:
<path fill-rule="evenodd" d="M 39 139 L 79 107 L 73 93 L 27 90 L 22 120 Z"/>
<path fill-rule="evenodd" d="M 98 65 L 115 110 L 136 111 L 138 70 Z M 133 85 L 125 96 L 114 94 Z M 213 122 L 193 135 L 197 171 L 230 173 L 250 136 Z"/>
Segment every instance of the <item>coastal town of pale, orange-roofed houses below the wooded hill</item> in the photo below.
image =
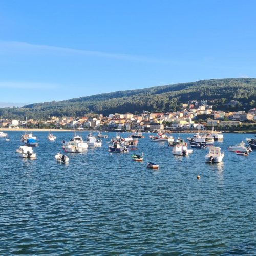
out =
<path fill-rule="evenodd" d="M 82 129 L 105 131 L 157 131 L 157 130 L 253 130 L 256 129 L 256 108 L 245 111 L 213 110 L 207 100 L 192 100 L 183 104 L 181 111 L 167 113 L 113 113 L 108 116 L 89 113 L 82 117 L 49 117 L 47 120 L 11 120 L 0 118 L 0 129 Z M 229 106 L 238 101 L 231 100 Z"/>

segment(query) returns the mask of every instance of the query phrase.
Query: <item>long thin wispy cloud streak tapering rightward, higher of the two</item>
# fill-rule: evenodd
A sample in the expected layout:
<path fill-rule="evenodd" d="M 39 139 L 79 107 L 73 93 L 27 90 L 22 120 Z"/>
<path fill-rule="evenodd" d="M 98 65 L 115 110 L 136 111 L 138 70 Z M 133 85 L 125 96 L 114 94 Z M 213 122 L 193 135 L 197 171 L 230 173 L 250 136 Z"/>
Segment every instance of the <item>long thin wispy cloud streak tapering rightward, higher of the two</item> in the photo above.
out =
<path fill-rule="evenodd" d="M 107 53 L 101 51 L 89 51 L 81 49 L 73 49 L 67 47 L 58 47 L 50 45 L 37 45 L 29 44 L 28 42 L 17 42 L 17 41 L 0 41 L 0 53 L 25 53 L 26 54 L 41 54 L 41 53 L 55 53 L 63 55 L 76 55 L 76 56 L 94 56 L 101 58 L 114 58 L 120 60 L 129 61 L 141 61 L 141 62 L 159 62 L 160 59 L 141 56 L 141 55 L 130 55 L 120 53 Z"/>

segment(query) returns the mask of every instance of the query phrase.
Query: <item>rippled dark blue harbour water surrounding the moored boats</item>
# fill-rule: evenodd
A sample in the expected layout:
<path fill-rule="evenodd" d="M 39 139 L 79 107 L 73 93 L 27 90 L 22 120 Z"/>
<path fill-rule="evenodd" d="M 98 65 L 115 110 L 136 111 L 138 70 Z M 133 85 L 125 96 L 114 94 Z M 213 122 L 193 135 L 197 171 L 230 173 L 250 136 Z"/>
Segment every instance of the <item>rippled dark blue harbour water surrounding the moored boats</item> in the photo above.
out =
<path fill-rule="evenodd" d="M 134 152 L 110 154 L 103 139 L 101 148 L 67 153 L 70 162 L 59 164 L 54 155 L 73 133 L 56 132 L 52 142 L 35 132 L 35 160 L 15 152 L 23 132 L 8 134 L 9 142 L 0 139 L 1 255 L 256 253 L 256 150 L 227 151 L 254 135 L 224 134 L 215 143 L 225 154 L 219 164 L 204 162 L 208 150 L 174 156 L 150 134 L 136 151 L 143 162 L 132 161 Z"/>

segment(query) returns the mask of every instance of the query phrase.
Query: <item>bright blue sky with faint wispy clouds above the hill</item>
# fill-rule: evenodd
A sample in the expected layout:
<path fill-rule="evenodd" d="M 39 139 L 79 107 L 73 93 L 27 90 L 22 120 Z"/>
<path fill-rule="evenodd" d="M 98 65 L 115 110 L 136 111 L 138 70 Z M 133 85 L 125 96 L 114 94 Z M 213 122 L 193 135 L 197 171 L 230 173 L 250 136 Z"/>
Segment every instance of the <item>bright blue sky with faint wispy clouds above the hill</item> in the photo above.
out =
<path fill-rule="evenodd" d="M 256 1 L 0 0 L 0 102 L 256 77 Z"/>

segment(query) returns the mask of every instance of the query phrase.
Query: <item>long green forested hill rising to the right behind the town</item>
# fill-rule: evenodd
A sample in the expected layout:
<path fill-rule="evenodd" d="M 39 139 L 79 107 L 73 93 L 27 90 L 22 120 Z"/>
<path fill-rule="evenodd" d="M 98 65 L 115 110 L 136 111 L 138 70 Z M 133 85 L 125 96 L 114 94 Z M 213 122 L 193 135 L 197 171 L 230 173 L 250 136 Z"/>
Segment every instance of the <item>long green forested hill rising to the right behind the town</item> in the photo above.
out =
<path fill-rule="evenodd" d="M 35 103 L 23 108 L 0 109 L 3 118 L 46 118 L 48 116 L 83 116 L 87 113 L 126 113 L 176 111 L 189 100 L 217 100 L 215 108 L 224 108 L 229 100 L 251 108 L 256 100 L 256 78 L 211 79 L 157 86 L 139 90 L 104 93 L 58 102 Z"/>

